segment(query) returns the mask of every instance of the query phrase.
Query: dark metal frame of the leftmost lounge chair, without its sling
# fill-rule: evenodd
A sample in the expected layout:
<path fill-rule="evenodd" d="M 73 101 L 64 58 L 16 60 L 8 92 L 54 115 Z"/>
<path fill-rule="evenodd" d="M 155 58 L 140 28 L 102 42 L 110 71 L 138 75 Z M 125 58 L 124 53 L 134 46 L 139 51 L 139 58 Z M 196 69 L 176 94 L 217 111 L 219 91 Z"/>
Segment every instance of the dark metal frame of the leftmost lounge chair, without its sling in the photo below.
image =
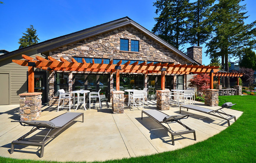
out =
<path fill-rule="evenodd" d="M 62 125 L 61 127 L 52 127 L 51 125 L 48 125 L 46 123 L 44 123 L 44 121 L 38 121 L 37 124 L 33 124 L 35 123 L 35 121 L 11 121 L 11 122 L 19 122 L 20 125 L 22 126 L 33 126 L 33 128 L 25 135 L 23 135 L 22 137 L 18 138 L 15 141 L 11 142 L 11 152 L 10 154 L 13 153 L 14 151 L 14 145 L 27 145 L 27 146 L 36 146 L 36 147 L 41 147 L 40 149 L 40 158 L 42 158 L 44 156 L 44 145 L 51 139 L 53 138 L 56 134 L 58 134 L 60 131 L 62 131 L 63 129 L 66 128 L 66 126 L 68 126 L 70 123 L 72 123 L 74 120 L 76 120 L 77 118 L 79 118 L 80 116 L 82 116 L 82 122 L 84 122 L 84 113 L 75 113 L 75 112 L 66 112 L 64 114 L 74 114 L 75 116 L 67 121 L 64 125 Z M 55 118 L 53 118 L 52 120 L 55 120 L 56 118 L 61 118 L 61 116 L 63 116 L 64 114 L 61 114 L 60 116 L 57 116 Z M 66 116 L 66 115 L 65 115 Z M 52 121 L 50 120 L 50 121 Z M 51 130 L 54 130 L 55 132 L 53 132 L 53 134 L 51 134 L 51 136 L 47 137 L 48 134 L 46 134 L 46 136 L 44 137 L 44 139 L 38 140 L 38 142 L 35 142 L 37 140 L 27 140 L 25 139 L 27 136 L 29 136 L 31 133 L 37 131 L 37 130 L 42 130 L 41 128 L 44 128 L 43 130 L 49 130 L 49 132 Z"/>

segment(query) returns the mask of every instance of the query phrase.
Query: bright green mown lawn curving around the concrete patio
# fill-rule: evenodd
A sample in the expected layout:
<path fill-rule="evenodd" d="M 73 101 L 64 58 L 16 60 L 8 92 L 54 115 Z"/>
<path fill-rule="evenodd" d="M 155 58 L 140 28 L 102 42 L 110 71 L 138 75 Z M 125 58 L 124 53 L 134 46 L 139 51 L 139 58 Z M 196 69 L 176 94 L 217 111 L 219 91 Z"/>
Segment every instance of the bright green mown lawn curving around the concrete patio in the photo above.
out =
<path fill-rule="evenodd" d="M 151 156 L 106 161 L 106 163 L 256 163 L 256 96 L 219 96 L 219 105 L 225 102 L 237 103 L 232 109 L 243 111 L 243 115 L 219 134 L 183 149 Z M 49 161 L 0 158 L 0 162 L 48 163 Z"/>

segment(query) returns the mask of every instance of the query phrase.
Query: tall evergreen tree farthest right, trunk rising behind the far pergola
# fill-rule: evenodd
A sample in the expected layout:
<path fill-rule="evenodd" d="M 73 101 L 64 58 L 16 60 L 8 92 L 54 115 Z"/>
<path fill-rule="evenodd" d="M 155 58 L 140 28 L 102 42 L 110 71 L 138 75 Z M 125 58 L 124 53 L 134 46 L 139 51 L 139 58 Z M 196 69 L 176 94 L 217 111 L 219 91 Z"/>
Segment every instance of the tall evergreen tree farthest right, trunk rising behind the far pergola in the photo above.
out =
<path fill-rule="evenodd" d="M 219 0 L 212 8 L 211 21 L 214 32 L 207 43 L 206 53 L 210 57 L 221 56 L 221 65 L 229 72 L 229 56 L 238 56 L 241 49 L 256 43 L 255 25 L 244 24 L 245 5 L 240 5 L 242 0 Z M 224 81 L 224 79 L 223 79 Z M 227 78 L 229 87 L 229 78 Z"/>

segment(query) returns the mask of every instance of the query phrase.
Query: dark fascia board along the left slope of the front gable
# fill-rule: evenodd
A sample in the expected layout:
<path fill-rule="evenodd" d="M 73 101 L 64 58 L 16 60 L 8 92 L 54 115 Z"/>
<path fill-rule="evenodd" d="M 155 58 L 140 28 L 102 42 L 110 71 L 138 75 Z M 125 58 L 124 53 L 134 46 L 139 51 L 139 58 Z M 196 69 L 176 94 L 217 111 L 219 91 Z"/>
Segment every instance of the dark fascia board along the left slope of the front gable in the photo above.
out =
<path fill-rule="evenodd" d="M 49 50 L 52 50 L 52 49 L 56 49 L 58 47 L 62 47 L 64 45 L 68 45 L 69 43 L 73 43 L 73 42 L 77 42 L 79 40 L 82 40 L 82 39 L 85 39 L 85 38 L 89 38 L 89 37 L 92 37 L 92 36 L 95 36 L 95 35 L 98 35 L 100 33 L 105 33 L 107 31 L 111 31 L 113 29 L 117 29 L 119 27 L 123 27 L 125 25 L 128 25 L 130 24 L 130 22 L 122 22 L 121 24 L 114 24 L 112 26 L 109 26 L 109 27 L 105 27 L 105 28 L 101 28 L 97 31 L 93 31 L 93 32 L 90 32 L 90 33 L 86 33 L 86 34 L 82 34 L 80 36 L 77 36 L 77 37 L 74 37 L 74 38 L 71 38 L 69 40 L 65 40 L 63 42 L 59 42 L 59 43 L 55 43 L 53 45 L 49 45 L 47 47 L 44 47 L 44 48 L 41 48 L 41 49 L 38 49 L 37 52 L 38 53 L 43 53 L 43 52 L 46 52 L 46 51 L 49 51 Z"/>

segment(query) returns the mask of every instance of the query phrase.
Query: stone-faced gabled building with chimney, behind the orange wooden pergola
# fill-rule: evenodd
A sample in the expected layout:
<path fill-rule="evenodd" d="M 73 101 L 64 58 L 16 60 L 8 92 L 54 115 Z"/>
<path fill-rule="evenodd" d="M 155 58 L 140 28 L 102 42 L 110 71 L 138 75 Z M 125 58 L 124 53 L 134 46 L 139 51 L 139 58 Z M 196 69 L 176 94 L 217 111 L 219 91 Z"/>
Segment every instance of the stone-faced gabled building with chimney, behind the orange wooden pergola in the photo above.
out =
<path fill-rule="evenodd" d="M 57 60 L 63 57 L 71 61 L 86 61 L 86 63 L 116 64 L 134 62 L 194 64 L 202 63 L 202 47 L 188 48 L 188 55 L 179 51 L 155 34 L 128 17 L 97 25 L 82 31 L 67 34 L 47 40 L 29 47 L 18 49 L 0 56 L 0 77 L 8 74 L 6 84 L 9 83 L 9 104 L 16 104 L 16 96 L 27 92 L 27 67 L 12 63 L 12 59 L 22 59 L 21 54 L 35 58 L 36 55 L 47 58 L 51 56 Z M 13 69 L 10 69 L 11 67 Z M 17 66 L 19 68 L 17 68 Z M 8 70 L 7 70 L 8 69 Z M 15 75 L 19 69 L 18 74 Z M 4 76 L 3 76 L 4 78 Z M 166 76 L 166 88 L 185 89 L 191 75 Z M 19 81 L 19 82 L 16 82 Z M 155 92 L 161 89 L 161 77 L 153 72 L 148 74 L 126 73 L 120 75 L 120 89 L 143 89 L 148 87 L 149 99 L 155 99 Z M 58 89 L 65 91 L 87 89 L 98 91 L 106 101 L 112 98 L 111 91 L 115 89 L 114 72 L 77 72 L 77 71 L 43 71 L 35 70 L 35 92 L 42 92 L 42 102 L 49 105 L 56 104 Z M 4 105 L 0 103 L 0 105 Z"/>

